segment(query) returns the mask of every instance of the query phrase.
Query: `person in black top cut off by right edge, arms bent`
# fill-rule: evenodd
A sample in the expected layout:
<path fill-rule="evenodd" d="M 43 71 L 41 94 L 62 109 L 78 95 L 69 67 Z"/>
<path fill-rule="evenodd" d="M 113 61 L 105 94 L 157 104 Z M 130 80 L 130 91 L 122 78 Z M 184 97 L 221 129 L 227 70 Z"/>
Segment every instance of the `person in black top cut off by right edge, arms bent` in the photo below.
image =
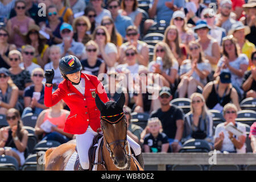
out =
<path fill-rule="evenodd" d="M 256 51 L 251 54 L 251 62 L 253 66 L 243 76 L 242 89 L 245 91 L 245 97 L 256 98 Z"/>

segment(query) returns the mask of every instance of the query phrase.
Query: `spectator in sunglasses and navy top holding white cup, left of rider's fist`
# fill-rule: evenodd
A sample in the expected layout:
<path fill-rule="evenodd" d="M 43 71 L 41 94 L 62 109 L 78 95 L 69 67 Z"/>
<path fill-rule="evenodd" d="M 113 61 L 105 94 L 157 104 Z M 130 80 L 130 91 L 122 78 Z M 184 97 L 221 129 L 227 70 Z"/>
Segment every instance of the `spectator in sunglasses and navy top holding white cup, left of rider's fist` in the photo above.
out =
<path fill-rule="evenodd" d="M 31 74 L 33 84 L 24 90 L 24 107 L 22 117 L 28 113 L 39 115 L 44 109 L 44 70 L 42 68 L 35 68 Z"/>

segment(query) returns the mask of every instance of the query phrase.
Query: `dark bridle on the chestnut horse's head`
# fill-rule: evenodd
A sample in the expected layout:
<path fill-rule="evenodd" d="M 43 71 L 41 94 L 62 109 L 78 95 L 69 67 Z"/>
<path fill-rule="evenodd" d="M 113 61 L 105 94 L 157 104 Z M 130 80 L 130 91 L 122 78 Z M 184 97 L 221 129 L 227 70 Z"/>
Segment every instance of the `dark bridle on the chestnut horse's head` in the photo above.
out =
<path fill-rule="evenodd" d="M 106 122 L 108 122 L 108 123 L 110 123 L 110 124 L 112 124 L 112 125 L 118 123 L 119 121 L 121 121 L 122 118 L 125 120 L 125 123 L 126 123 L 126 127 L 125 127 L 125 133 L 126 133 L 125 139 L 122 139 L 122 140 L 115 140 L 114 142 L 110 142 L 110 143 L 106 140 L 105 133 L 104 133 L 104 129 L 105 129 L 105 128 L 104 128 L 104 126 L 103 126 L 102 123 L 101 123 L 101 128 L 102 128 L 102 132 L 103 132 L 103 136 L 104 136 L 104 140 L 105 140 L 104 143 L 105 143 L 105 146 L 106 146 L 106 148 L 108 149 L 108 151 L 109 151 L 109 153 L 110 153 L 110 158 L 113 160 L 113 162 L 114 162 L 114 157 L 113 157 L 114 153 L 113 153 L 113 151 L 112 151 L 111 148 L 110 148 L 110 146 L 111 146 L 112 144 L 114 144 L 114 149 L 115 149 L 115 147 L 117 147 L 117 146 L 121 146 L 122 149 L 125 151 L 125 156 L 126 156 L 126 158 L 128 157 L 127 151 L 126 151 L 126 146 L 127 146 L 127 119 L 126 119 L 126 115 L 125 115 L 124 113 L 122 113 L 122 116 L 119 117 L 119 119 L 117 119 L 117 121 L 114 121 L 114 122 L 109 121 L 109 119 L 106 119 L 105 117 L 102 117 L 102 116 L 101 116 L 101 121 L 102 121 L 102 119 L 103 119 L 104 121 L 106 121 Z M 124 145 L 122 144 L 122 142 L 124 143 Z"/>

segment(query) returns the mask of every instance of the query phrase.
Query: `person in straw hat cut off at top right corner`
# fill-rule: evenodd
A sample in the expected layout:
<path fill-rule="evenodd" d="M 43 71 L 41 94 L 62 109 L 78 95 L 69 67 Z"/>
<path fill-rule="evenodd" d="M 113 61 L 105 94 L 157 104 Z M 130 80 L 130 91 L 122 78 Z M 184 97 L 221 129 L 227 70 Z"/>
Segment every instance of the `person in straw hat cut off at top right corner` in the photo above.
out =
<path fill-rule="evenodd" d="M 245 16 L 243 16 L 240 21 L 245 25 L 250 27 L 250 34 L 246 35 L 246 39 L 251 43 L 256 45 L 256 0 L 249 0 L 245 5 L 243 5 L 245 10 Z"/>

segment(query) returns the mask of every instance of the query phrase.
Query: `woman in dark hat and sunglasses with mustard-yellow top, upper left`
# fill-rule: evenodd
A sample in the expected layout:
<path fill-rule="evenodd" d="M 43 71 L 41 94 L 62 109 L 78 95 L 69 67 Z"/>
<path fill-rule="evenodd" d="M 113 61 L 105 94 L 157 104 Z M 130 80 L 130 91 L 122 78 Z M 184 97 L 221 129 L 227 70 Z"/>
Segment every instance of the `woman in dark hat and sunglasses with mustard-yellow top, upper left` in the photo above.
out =
<path fill-rule="evenodd" d="M 32 24 L 30 27 L 28 27 L 28 32 L 26 32 L 24 36 L 26 44 L 35 48 L 35 55 L 32 59 L 32 62 L 40 65 L 40 67 L 43 68 L 49 59 L 49 46 L 46 44 L 46 37 L 40 34 L 39 31 L 40 27 L 36 24 Z"/>

